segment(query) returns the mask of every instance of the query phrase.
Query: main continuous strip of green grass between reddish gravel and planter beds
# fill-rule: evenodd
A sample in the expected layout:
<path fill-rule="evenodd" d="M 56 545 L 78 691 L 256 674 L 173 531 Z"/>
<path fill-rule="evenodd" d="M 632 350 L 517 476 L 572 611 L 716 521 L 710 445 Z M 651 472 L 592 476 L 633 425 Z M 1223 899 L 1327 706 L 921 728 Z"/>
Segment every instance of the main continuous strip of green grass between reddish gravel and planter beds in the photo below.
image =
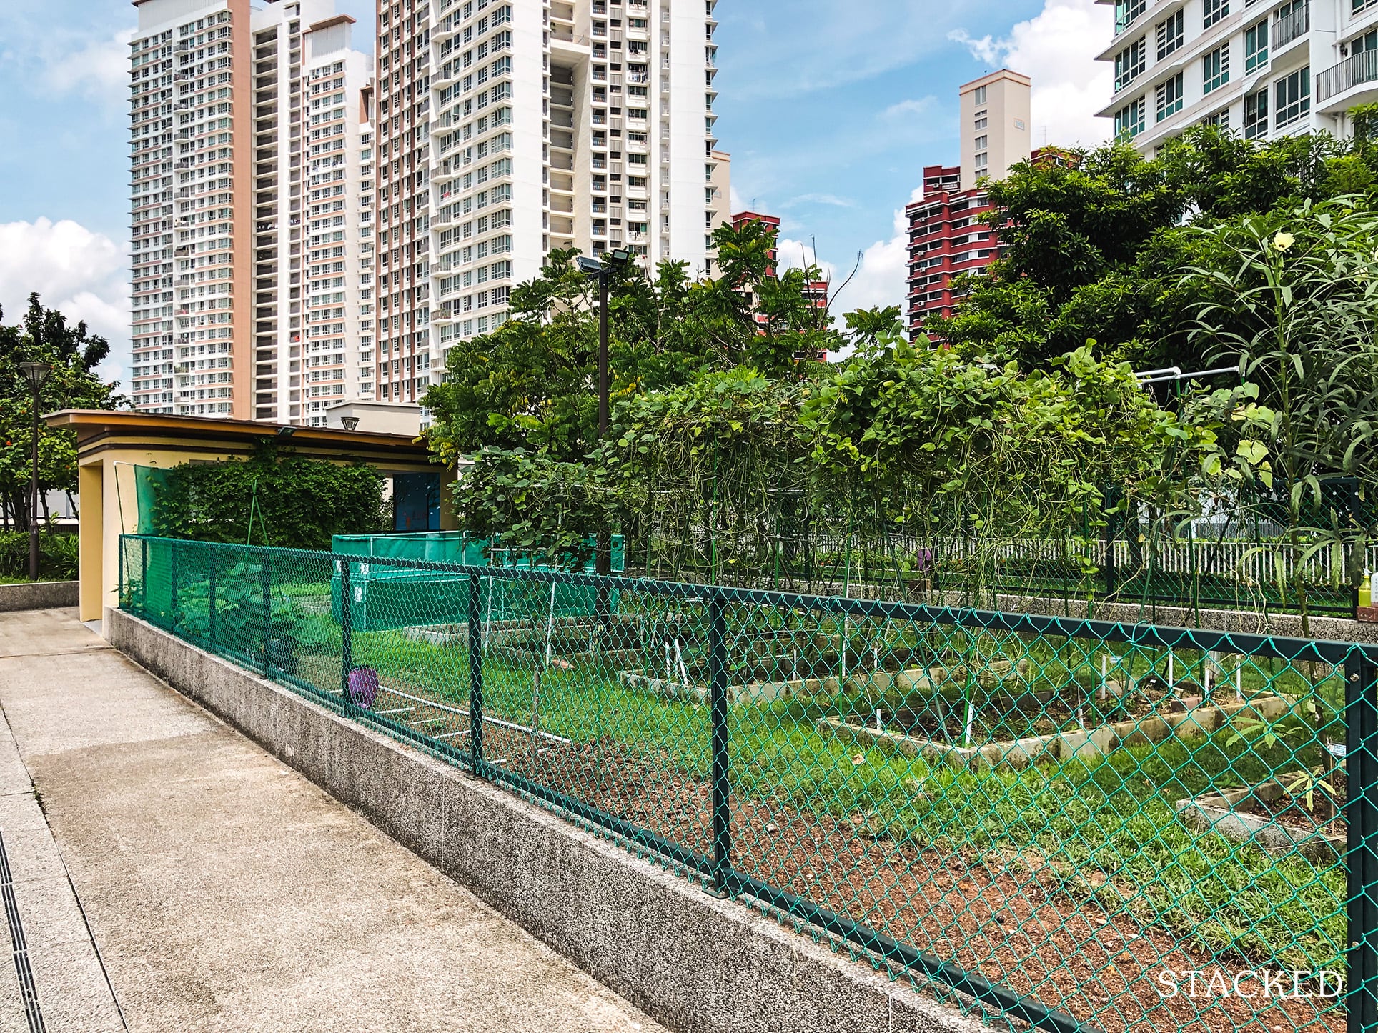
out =
<path fill-rule="evenodd" d="M 361 636 L 367 638 L 367 636 Z M 467 700 L 469 654 L 400 636 L 357 642 L 356 657 L 389 679 Z M 1257 679 L 1264 683 L 1262 675 Z M 1275 685 L 1276 685 L 1275 678 Z M 532 672 L 485 662 L 485 712 L 526 722 Z M 1119 749 L 1096 764 L 974 774 L 930 766 L 887 749 L 858 749 L 820 734 L 827 713 L 865 713 L 870 701 L 832 697 L 816 705 L 734 707 L 730 767 L 737 793 L 790 799 L 802 811 L 863 814 L 898 846 L 969 857 L 1020 853 L 1042 858 L 1073 898 L 1100 898 L 1213 952 L 1258 963 L 1334 964 L 1345 937 L 1345 872 L 1305 858 L 1277 858 L 1222 836 L 1196 833 L 1173 802 L 1211 788 L 1264 781 L 1319 763 L 1319 747 L 1297 751 L 1261 738 L 1231 742 L 1231 730 Z M 621 686 L 609 672 L 576 665 L 542 679 L 540 724 L 576 742 L 610 737 L 630 753 L 668 758 L 707 778 L 708 712 Z M 861 763 L 854 763 L 856 756 Z M 922 796 L 919 793 L 923 793 Z M 1086 877 L 1094 873 L 1100 877 Z"/>

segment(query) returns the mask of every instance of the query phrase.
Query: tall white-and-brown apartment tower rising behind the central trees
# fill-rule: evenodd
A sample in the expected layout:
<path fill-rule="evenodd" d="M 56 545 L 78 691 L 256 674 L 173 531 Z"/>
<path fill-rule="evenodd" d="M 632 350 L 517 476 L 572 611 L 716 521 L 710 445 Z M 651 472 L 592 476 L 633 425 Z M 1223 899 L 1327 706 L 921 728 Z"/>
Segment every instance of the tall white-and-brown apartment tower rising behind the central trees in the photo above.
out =
<path fill-rule="evenodd" d="M 380 401 L 419 401 L 557 248 L 706 269 L 715 3 L 379 0 Z"/>

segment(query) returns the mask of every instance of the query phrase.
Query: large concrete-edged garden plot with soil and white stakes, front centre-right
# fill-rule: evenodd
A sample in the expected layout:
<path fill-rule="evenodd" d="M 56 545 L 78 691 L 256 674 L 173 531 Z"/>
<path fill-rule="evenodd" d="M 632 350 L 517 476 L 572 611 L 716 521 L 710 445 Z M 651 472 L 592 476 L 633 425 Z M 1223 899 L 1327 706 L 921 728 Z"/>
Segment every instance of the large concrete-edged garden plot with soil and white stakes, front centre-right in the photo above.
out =
<path fill-rule="evenodd" d="M 1170 678 L 1178 665 L 1169 658 Z M 1174 669 L 1175 668 L 1175 669 Z M 1101 679 L 1086 671 L 1061 686 L 1047 678 L 1027 682 L 1028 664 L 995 660 L 967 675 L 965 668 L 872 674 L 879 700 L 817 720 L 820 731 L 893 748 L 909 756 L 959 767 L 1028 767 L 1042 762 L 1091 759 L 1123 747 L 1210 735 L 1226 724 L 1272 722 L 1290 713 L 1295 698 L 1277 691 L 1244 693 L 1217 680 L 1206 686 L 1170 682 L 1149 672 L 1137 680 Z"/>

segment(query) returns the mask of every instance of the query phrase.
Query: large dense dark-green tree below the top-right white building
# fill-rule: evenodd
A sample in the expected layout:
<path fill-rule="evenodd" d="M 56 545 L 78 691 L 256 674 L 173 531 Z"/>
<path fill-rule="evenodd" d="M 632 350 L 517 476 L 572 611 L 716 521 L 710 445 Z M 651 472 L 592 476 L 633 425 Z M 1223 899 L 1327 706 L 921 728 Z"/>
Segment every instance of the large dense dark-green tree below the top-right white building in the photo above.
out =
<path fill-rule="evenodd" d="M 1196 127 L 1145 158 L 1127 143 L 1018 165 L 989 183 L 1003 245 L 949 320 L 926 328 L 969 354 L 1047 369 L 1087 340 L 1135 368 L 1200 369 L 1188 335 L 1199 300 L 1180 271 L 1214 242 L 1189 227 L 1368 189 L 1378 152 L 1324 134 L 1265 143 Z"/>

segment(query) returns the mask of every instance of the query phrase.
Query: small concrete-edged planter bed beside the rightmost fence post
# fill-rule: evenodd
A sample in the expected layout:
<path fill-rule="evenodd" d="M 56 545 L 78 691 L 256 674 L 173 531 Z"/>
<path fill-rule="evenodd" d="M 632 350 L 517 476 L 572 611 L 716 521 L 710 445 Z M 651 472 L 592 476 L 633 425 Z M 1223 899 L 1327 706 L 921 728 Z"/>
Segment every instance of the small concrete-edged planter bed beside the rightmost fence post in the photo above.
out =
<path fill-rule="evenodd" d="M 1312 861 L 1333 864 L 1348 850 L 1344 826 L 1319 821 L 1299 800 L 1280 808 L 1276 806 L 1286 799 L 1287 786 L 1301 777 L 1304 773 L 1291 771 L 1242 789 L 1191 796 L 1177 802 L 1177 815 L 1197 832 L 1217 832 L 1276 854 L 1297 853 Z M 1264 813 L 1250 814 L 1250 807 Z"/>

